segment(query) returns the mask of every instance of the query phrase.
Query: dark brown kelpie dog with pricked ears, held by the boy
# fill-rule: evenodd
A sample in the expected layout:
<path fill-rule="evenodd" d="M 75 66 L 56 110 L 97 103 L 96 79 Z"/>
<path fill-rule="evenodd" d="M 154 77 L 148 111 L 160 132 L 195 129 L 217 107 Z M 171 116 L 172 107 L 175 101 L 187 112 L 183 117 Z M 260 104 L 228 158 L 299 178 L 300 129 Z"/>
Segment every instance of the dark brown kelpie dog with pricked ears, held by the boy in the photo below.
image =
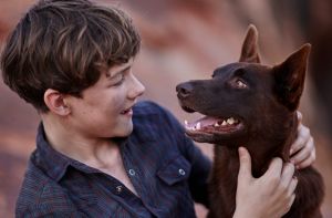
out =
<path fill-rule="evenodd" d="M 289 162 L 297 136 L 297 108 L 304 86 L 311 50 L 304 44 L 276 66 L 260 64 L 258 32 L 250 25 L 240 61 L 214 71 L 212 79 L 177 85 L 177 96 L 187 112 L 205 117 L 186 123 L 186 134 L 215 144 L 210 184 L 209 217 L 232 217 L 236 208 L 238 146 L 246 146 L 252 159 L 252 175 L 260 177 L 273 157 Z M 299 180 L 295 200 L 284 217 L 321 217 L 321 175 L 308 167 L 294 174 Z"/>

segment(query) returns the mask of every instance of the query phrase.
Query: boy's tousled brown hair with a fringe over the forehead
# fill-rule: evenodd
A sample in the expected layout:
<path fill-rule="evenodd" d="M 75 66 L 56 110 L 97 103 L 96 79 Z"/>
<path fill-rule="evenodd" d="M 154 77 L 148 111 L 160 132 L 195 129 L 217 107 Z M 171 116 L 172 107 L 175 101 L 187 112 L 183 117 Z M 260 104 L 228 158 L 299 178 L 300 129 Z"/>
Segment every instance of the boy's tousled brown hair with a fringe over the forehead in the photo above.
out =
<path fill-rule="evenodd" d="M 80 97 L 102 71 L 138 53 L 141 38 L 116 8 L 89 0 L 41 0 L 18 23 L 1 55 L 4 83 L 38 111 L 48 89 Z"/>

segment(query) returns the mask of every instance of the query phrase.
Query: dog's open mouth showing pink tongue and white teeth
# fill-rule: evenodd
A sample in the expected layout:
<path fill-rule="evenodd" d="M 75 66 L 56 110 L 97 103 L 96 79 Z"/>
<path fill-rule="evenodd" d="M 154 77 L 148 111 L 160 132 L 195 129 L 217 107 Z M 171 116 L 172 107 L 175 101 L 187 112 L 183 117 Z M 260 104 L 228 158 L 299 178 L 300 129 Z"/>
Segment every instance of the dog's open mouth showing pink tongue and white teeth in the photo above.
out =
<path fill-rule="evenodd" d="M 243 124 L 240 118 L 229 117 L 212 117 L 204 116 L 193 123 L 185 121 L 186 133 L 191 135 L 205 134 L 232 134 L 243 128 Z"/>

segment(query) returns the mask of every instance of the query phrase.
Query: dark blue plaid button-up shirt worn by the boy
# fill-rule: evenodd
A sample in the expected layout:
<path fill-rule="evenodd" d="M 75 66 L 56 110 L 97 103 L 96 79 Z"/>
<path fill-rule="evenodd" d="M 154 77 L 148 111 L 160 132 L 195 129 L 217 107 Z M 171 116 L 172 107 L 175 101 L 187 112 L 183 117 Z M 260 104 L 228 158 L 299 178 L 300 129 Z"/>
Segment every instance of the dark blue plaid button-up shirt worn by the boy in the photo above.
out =
<path fill-rule="evenodd" d="M 17 217 L 196 217 L 207 205 L 210 160 L 169 112 L 152 102 L 134 107 L 134 131 L 120 143 L 139 197 L 121 181 L 54 150 L 37 136 L 17 203 Z"/>

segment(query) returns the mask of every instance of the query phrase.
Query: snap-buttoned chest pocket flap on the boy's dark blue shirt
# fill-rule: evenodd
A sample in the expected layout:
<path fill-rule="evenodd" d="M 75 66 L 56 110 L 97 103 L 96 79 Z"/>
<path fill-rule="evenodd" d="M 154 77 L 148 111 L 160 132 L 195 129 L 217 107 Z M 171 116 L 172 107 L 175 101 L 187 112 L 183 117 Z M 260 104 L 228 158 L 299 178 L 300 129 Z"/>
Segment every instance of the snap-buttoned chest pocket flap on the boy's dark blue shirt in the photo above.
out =
<path fill-rule="evenodd" d="M 181 155 L 175 157 L 157 170 L 157 176 L 167 185 L 172 186 L 186 181 L 190 175 L 191 165 Z"/>

